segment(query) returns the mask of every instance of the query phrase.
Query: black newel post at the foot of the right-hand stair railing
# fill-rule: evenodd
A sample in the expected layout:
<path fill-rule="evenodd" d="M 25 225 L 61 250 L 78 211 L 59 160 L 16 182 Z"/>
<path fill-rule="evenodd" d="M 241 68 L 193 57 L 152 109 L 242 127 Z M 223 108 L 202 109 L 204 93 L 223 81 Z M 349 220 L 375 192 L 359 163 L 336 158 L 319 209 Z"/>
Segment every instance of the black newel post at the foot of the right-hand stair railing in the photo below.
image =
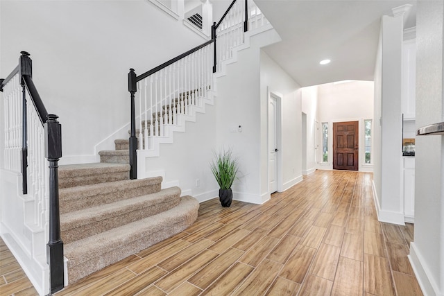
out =
<path fill-rule="evenodd" d="M 131 95 L 131 136 L 130 136 L 130 179 L 137 179 L 137 137 L 134 94 L 137 92 L 136 73 L 130 69 L 128 73 L 128 92 Z"/>

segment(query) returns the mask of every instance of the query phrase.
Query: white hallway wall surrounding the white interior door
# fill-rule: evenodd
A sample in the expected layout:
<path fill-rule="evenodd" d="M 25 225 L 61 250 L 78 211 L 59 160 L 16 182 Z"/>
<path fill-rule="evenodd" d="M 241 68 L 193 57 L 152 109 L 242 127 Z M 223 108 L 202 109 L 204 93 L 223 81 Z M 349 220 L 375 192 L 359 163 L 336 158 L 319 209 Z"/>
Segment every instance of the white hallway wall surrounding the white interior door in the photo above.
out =
<path fill-rule="evenodd" d="M 284 191 L 302 181 L 302 98 L 300 86 L 264 51 L 261 51 L 261 193 L 268 190 L 268 93 L 282 95 L 282 143 L 278 143 L 278 191 Z M 265 128 L 264 128 L 265 125 Z M 280 153 L 280 155 L 279 155 Z"/>

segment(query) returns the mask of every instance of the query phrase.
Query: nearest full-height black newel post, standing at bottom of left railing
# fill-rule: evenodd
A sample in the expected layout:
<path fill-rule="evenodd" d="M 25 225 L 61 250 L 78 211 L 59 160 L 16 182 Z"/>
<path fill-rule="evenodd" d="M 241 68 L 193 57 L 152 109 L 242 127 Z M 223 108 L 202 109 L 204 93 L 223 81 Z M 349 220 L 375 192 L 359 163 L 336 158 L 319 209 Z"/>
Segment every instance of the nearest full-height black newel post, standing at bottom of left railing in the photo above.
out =
<path fill-rule="evenodd" d="M 51 293 L 62 290 L 64 286 L 58 201 L 58 160 L 62 157 L 62 126 L 57 119 L 57 115 L 48 114 L 48 120 L 44 123 L 44 157 L 49 162 L 49 242 L 46 245 L 46 260 L 50 270 Z"/>

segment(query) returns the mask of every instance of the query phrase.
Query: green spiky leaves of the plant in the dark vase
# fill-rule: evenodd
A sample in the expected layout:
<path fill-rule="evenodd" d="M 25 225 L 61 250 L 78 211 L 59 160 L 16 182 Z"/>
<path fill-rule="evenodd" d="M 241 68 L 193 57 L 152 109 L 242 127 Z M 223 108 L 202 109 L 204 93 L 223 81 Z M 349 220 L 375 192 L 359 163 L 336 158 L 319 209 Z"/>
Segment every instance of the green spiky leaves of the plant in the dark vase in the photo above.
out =
<path fill-rule="evenodd" d="M 210 165 L 220 189 L 230 189 L 239 170 L 239 163 L 233 157 L 232 149 L 214 152 L 214 160 Z"/>

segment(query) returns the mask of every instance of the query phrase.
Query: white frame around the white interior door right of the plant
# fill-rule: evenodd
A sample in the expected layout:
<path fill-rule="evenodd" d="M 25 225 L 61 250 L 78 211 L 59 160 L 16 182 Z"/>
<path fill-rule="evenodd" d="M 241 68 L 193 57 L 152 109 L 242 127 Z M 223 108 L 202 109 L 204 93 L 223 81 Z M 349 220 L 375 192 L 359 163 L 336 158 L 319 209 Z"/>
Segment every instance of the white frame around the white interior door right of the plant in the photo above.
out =
<path fill-rule="evenodd" d="M 267 104 L 266 104 L 266 155 L 267 155 L 267 159 L 266 159 L 266 168 L 267 168 L 267 191 L 268 193 L 270 192 L 270 168 L 268 167 L 269 165 L 269 159 L 268 159 L 268 155 L 269 155 L 269 151 L 268 151 L 268 106 L 270 105 L 270 100 L 273 97 L 276 100 L 276 143 L 278 145 L 278 153 L 276 154 L 276 184 L 277 184 L 277 188 L 278 188 L 278 192 L 282 192 L 284 189 L 284 184 L 282 183 L 282 94 L 280 94 L 279 92 L 274 92 L 273 90 L 269 89 L 269 87 L 267 87 Z"/>

